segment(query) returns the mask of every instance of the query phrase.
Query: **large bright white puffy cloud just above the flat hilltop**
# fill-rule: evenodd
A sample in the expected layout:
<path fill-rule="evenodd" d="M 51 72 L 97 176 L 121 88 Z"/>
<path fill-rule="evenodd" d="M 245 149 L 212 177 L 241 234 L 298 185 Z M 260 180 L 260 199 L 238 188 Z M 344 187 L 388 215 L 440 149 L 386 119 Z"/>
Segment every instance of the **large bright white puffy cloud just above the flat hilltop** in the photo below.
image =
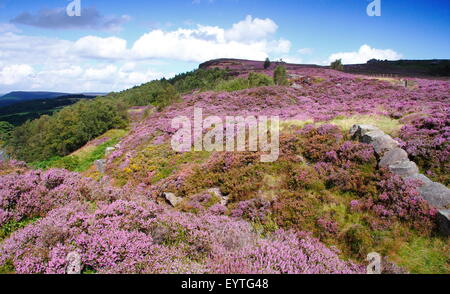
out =
<path fill-rule="evenodd" d="M 169 58 L 203 62 L 214 58 L 262 60 L 272 53 L 286 54 L 291 42 L 272 40 L 269 35 L 278 26 L 270 19 L 248 16 L 230 30 L 212 26 L 164 32 L 153 30 L 139 38 L 132 47 L 136 58 Z"/>

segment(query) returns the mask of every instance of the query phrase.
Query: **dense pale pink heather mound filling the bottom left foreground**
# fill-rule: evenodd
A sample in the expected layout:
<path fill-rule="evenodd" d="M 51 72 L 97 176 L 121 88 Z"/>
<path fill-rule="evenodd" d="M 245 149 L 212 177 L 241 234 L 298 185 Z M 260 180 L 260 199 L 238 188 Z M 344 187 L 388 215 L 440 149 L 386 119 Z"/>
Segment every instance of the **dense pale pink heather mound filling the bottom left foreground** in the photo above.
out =
<path fill-rule="evenodd" d="M 99 273 L 362 273 L 306 235 L 261 239 L 242 220 L 122 200 L 95 212 L 79 202 L 51 211 L 0 246 L 0 265 L 64 273 L 72 251 L 85 271 Z"/>

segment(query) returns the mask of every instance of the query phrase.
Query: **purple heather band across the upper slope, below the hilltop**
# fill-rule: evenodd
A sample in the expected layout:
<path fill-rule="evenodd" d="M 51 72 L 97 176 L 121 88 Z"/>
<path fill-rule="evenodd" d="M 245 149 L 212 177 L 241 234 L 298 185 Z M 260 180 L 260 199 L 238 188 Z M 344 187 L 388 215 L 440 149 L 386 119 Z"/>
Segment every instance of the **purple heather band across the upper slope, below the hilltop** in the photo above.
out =
<path fill-rule="evenodd" d="M 142 144 L 154 139 L 168 140 L 176 130 L 171 120 L 177 116 L 193 117 L 194 108 L 203 108 L 204 116 L 278 115 L 281 120 L 328 121 L 357 114 L 384 115 L 401 118 L 411 113 L 446 114 L 449 83 L 416 79 L 417 86 L 407 89 L 386 81 L 362 79 L 324 69 L 297 69 L 290 74 L 302 75 L 319 82 L 301 87 L 260 87 L 237 92 L 203 92 L 183 96 L 163 112 L 153 113 L 137 124 L 125 137 L 121 148 L 111 154 L 113 159 L 134 156 Z M 120 160 L 119 160 L 120 161 Z M 123 165 L 123 166 L 126 166 Z"/>

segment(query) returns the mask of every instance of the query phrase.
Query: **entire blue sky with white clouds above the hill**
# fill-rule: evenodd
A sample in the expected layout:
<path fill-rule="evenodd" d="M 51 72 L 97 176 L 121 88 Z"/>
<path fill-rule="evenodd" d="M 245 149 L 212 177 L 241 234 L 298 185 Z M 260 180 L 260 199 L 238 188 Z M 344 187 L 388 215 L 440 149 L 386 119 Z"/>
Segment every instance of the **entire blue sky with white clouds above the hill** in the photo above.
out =
<path fill-rule="evenodd" d="M 223 57 L 449 59 L 449 16 L 448 0 L 0 0 L 0 93 L 121 91 Z"/>

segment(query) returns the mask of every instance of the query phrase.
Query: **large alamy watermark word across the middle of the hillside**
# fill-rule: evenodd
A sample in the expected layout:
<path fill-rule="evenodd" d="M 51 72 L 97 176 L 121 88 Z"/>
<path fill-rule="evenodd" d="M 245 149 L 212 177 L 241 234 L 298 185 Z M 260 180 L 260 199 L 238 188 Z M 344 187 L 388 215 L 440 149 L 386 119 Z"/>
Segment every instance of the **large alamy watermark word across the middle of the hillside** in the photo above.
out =
<path fill-rule="evenodd" d="M 280 155 L 280 118 L 272 116 L 218 116 L 203 118 L 203 109 L 194 109 L 194 120 L 178 116 L 172 120 L 178 131 L 171 144 L 177 152 L 227 151 L 263 152 L 261 162 L 275 162 Z M 248 132 L 247 132 L 248 130 Z M 193 148 L 192 148 L 193 146 Z"/>

